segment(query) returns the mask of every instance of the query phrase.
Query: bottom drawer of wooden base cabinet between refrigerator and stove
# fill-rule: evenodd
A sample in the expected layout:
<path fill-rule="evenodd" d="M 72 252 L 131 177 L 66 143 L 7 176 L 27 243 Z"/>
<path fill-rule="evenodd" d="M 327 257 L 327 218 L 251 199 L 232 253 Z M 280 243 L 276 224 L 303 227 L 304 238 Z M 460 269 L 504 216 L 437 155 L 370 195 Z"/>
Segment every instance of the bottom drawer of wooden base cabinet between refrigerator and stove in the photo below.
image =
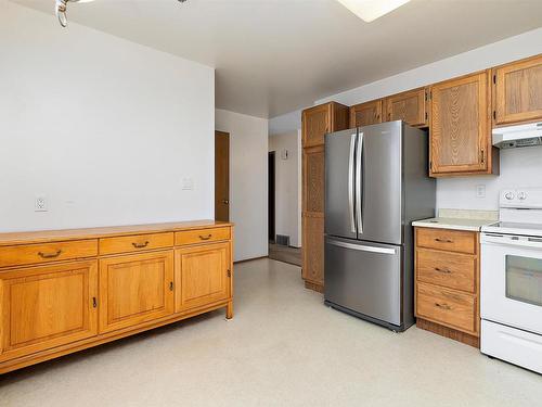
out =
<path fill-rule="evenodd" d="M 418 282 L 416 316 L 469 334 L 477 334 L 476 297 L 466 293 Z"/>

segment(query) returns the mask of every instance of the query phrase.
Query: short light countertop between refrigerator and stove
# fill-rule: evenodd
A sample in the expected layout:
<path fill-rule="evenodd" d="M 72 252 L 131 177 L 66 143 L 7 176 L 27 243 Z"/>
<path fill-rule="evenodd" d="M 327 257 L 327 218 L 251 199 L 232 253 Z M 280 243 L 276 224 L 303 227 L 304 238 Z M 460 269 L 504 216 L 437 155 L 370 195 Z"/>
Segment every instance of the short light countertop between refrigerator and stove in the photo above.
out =
<path fill-rule="evenodd" d="M 482 226 L 492 225 L 498 220 L 498 213 L 492 211 L 440 209 L 438 217 L 416 220 L 412 222 L 412 226 L 480 231 Z"/>

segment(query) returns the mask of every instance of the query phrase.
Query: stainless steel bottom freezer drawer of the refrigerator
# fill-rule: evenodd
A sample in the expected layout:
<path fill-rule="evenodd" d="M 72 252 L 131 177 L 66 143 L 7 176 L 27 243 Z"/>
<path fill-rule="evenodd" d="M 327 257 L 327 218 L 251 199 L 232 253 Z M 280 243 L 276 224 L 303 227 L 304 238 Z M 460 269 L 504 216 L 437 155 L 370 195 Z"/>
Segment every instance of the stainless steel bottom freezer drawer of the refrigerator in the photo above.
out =
<path fill-rule="evenodd" d="M 402 246 L 326 237 L 325 300 L 400 326 L 402 250 Z"/>

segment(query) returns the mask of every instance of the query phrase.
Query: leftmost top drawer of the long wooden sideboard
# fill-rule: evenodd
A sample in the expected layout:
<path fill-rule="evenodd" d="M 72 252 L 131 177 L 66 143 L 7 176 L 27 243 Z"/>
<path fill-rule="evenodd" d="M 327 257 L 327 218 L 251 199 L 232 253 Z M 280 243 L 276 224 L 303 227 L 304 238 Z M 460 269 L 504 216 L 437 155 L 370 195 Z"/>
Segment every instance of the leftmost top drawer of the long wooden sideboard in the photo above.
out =
<path fill-rule="evenodd" d="M 21 244 L 0 247 L 0 267 L 68 260 L 98 255 L 98 240 Z"/>

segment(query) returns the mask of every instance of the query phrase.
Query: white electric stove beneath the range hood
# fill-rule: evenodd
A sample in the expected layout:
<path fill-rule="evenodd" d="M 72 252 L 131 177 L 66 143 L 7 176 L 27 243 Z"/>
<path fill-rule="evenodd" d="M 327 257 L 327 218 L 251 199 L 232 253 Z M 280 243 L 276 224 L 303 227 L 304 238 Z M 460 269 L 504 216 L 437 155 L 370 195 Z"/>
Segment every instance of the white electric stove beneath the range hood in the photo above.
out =
<path fill-rule="evenodd" d="M 542 373 L 542 189 L 504 190 L 481 228 L 481 352 Z"/>

